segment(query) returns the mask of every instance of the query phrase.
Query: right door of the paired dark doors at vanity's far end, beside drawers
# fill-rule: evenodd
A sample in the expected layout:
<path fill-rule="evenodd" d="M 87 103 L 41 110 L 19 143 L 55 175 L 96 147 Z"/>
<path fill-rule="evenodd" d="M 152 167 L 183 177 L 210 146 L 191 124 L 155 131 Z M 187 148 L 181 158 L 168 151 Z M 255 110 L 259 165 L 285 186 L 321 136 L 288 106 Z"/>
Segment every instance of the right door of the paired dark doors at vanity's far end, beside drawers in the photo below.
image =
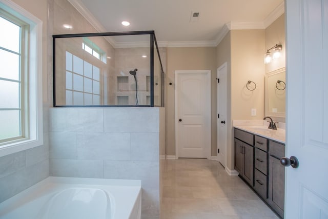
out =
<path fill-rule="evenodd" d="M 254 147 L 243 143 L 243 177 L 251 186 L 254 173 Z"/>

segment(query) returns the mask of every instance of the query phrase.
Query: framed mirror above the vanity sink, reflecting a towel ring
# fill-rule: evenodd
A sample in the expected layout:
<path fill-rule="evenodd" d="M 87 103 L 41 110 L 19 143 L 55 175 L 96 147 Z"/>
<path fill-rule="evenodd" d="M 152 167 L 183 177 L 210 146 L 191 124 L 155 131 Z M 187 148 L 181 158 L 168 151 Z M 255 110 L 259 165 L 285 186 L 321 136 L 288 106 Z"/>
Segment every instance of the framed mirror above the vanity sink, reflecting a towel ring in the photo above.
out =
<path fill-rule="evenodd" d="M 280 68 L 265 75 L 265 116 L 285 117 L 286 71 Z"/>

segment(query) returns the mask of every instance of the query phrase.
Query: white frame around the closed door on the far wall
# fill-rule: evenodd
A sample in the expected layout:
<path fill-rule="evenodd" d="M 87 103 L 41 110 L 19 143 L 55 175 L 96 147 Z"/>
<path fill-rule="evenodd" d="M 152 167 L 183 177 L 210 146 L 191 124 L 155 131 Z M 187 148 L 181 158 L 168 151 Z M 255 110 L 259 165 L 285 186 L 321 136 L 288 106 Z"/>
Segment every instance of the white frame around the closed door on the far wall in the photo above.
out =
<path fill-rule="evenodd" d="M 182 74 L 205 74 L 207 76 L 207 96 L 208 96 L 208 100 L 207 100 L 207 105 L 208 105 L 208 110 L 207 110 L 207 114 L 209 115 L 208 120 L 207 120 L 207 127 L 209 129 L 209 132 L 207 134 L 208 137 L 208 146 L 206 147 L 206 151 L 207 151 L 207 158 L 210 159 L 211 158 L 211 70 L 175 70 L 174 71 L 174 84 L 175 84 L 175 91 L 174 91 L 174 103 L 175 103 L 175 158 L 178 159 L 179 158 L 179 148 L 178 148 L 178 142 L 179 142 L 179 135 L 177 134 L 177 130 L 178 130 L 178 88 L 179 88 L 179 84 L 178 84 L 178 76 L 182 75 Z"/>

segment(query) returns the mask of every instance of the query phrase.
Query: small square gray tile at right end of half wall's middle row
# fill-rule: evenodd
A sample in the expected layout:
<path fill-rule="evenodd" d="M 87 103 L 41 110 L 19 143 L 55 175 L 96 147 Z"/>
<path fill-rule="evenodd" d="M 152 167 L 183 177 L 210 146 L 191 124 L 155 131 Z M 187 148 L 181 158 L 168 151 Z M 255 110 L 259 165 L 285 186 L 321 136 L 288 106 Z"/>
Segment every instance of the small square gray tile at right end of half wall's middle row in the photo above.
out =
<path fill-rule="evenodd" d="M 131 160 L 158 161 L 158 133 L 131 133 Z"/>

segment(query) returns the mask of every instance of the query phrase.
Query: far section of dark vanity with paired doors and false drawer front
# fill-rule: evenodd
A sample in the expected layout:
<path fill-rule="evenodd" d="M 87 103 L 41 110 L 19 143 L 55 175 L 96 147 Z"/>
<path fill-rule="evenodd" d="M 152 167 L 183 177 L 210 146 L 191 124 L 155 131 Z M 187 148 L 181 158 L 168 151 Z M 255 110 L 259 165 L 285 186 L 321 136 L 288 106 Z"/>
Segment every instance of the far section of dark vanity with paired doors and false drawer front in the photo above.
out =
<path fill-rule="evenodd" d="M 235 129 L 235 170 L 253 186 L 254 182 L 254 135 Z"/>

